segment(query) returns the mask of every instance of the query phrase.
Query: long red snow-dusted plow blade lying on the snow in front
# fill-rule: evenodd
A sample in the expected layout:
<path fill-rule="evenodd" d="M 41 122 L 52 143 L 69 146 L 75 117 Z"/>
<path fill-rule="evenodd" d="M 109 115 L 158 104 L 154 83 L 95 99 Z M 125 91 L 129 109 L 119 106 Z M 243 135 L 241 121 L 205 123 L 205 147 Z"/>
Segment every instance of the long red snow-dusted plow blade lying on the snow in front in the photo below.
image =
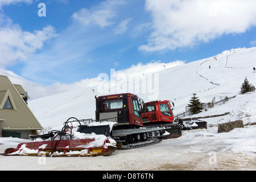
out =
<path fill-rule="evenodd" d="M 108 139 L 100 147 L 86 147 L 94 141 L 94 139 L 74 139 L 20 143 L 17 148 L 7 148 L 3 155 L 98 156 L 110 155 L 117 150 L 117 147 L 111 146 Z"/>

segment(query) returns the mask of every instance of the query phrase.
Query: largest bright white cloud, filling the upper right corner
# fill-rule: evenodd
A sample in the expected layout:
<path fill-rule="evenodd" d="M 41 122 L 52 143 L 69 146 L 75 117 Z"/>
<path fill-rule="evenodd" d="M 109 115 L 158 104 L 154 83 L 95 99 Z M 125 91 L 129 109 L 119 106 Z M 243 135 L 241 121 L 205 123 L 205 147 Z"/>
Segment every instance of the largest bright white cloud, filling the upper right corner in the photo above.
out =
<path fill-rule="evenodd" d="M 239 34 L 256 26 L 255 0 L 146 0 L 152 31 L 146 52 L 166 51 Z"/>

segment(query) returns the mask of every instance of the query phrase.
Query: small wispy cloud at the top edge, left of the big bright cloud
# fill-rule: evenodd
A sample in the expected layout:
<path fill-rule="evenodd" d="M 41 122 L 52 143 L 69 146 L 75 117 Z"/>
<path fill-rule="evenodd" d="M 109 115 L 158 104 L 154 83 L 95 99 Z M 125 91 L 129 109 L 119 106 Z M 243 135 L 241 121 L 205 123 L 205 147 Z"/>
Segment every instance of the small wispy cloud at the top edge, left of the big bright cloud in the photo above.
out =
<path fill-rule="evenodd" d="M 123 3 L 124 1 L 120 0 L 108 0 L 90 9 L 83 8 L 79 12 L 74 13 L 72 18 L 85 26 L 92 23 L 104 28 L 114 23 L 111 20 L 117 15 L 114 9 L 118 5 L 123 5 Z"/>

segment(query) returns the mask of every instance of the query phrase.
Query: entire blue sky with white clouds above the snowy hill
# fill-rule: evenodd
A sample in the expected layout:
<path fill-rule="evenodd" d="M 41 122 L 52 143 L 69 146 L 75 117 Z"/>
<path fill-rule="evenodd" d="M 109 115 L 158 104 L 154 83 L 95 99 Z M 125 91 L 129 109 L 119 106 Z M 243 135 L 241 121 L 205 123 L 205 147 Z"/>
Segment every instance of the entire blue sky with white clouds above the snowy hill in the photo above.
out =
<path fill-rule="evenodd" d="M 44 85 L 254 46 L 254 0 L 0 0 L 0 68 Z"/>

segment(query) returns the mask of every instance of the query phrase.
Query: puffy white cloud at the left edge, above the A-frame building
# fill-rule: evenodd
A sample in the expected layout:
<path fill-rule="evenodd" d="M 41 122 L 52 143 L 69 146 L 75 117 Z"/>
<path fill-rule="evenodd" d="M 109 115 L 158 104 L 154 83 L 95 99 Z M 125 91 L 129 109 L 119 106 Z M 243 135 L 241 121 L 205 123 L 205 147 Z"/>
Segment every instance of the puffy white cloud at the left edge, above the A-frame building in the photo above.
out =
<path fill-rule="evenodd" d="M 12 65 L 17 60 L 26 61 L 53 36 L 56 33 L 52 26 L 34 32 L 23 31 L 10 18 L 0 14 L 0 66 Z"/>

